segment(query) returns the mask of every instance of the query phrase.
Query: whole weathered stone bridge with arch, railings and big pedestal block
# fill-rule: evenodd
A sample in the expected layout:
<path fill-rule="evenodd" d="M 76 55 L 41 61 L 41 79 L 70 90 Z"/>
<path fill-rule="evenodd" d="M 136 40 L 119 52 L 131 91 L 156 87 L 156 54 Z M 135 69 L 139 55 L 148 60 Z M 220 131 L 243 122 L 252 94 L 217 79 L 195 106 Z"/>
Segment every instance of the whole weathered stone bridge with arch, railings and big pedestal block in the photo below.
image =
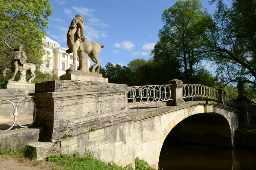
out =
<path fill-rule="evenodd" d="M 126 166 L 139 157 L 157 168 L 163 143 L 176 127 L 180 141 L 233 145 L 236 128 L 250 121 L 242 102 L 224 91 L 179 80 L 154 87 L 55 80 L 37 83 L 30 95 L 38 110 L 32 128 L 2 132 L 0 139 L 1 147 L 10 147 L 17 133 L 36 133 L 38 141 L 28 145 L 38 160 L 92 150 L 103 161 Z M 26 131 L 33 129 L 38 131 Z"/>

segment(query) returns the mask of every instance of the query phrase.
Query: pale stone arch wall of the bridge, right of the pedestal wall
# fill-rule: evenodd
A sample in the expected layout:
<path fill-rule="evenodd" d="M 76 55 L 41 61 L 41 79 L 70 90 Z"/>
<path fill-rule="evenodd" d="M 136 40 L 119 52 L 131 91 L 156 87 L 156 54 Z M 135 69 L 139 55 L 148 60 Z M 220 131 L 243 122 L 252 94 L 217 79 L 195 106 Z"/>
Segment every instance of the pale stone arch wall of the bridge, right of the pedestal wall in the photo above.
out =
<path fill-rule="evenodd" d="M 134 117 L 131 116 L 135 120 L 135 157 L 145 159 L 152 167 L 158 167 L 161 148 L 166 136 L 182 120 L 198 113 L 218 113 L 224 116 L 230 125 L 230 142 L 233 144 L 235 130 L 238 127 L 239 111 L 237 109 L 211 101 L 186 102 L 179 106 L 164 106 L 155 110 L 139 111 L 139 114 L 134 111 Z M 188 129 L 189 127 L 183 130 Z M 204 131 L 212 132 L 214 129 L 215 127 L 209 125 Z M 222 132 L 221 136 L 227 136 L 227 132 L 224 132 L 221 127 L 218 131 Z"/>

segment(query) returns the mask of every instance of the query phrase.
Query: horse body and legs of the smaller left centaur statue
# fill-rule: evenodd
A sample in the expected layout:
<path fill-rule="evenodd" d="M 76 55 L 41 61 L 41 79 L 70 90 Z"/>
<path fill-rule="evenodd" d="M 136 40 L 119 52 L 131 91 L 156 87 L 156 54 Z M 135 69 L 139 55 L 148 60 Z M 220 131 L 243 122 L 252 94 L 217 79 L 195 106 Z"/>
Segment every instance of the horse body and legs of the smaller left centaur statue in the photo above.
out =
<path fill-rule="evenodd" d="M 28 80 L 29 82 L 32 82 L 33 79 L 35 79 L 35 71 L 36 71 L 36 65 L 33 62 L 26 63 L 25 65 L 19 65 L 18 66 L 19 71 L 20 71 L 20 78 L 19 82 L 26 82 L 26 72 L 29 73 L 31 76 Z M 3 77 L 6 77 L 6 71 L 14 71 L 15 72 L 15 66 L 12 64 L 12 67 L 10 68 L 5 68 L 3 70 Z M 16 74 L 13 75 L 12 79 L 9 79 L 9 81 L 13 81 L 15 78 Z"/>

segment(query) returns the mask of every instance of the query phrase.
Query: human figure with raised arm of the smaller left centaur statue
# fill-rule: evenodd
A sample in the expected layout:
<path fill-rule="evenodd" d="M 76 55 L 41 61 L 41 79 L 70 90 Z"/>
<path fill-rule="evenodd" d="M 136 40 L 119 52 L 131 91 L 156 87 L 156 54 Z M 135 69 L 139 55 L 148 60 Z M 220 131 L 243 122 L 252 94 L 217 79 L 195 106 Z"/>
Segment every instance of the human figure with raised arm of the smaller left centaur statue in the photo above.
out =
<path fill-rule="evenodd" d="M 13 59 L 12 59 L 12 64 L 13 64 L 14 67 L 15 67 L 14 75 L 16 75 L 17 72 L 19 71 L 19 68 L 18 68 L 19 65 L 21 65 L 21 67 L 23 67 L 23 65 L 26 65 L 26 59 L 27 59 L 27 57 L 26 57 L 25 51 L 22 51 L 22 50 L 23 50 L 23 45 L 20 45 L 20 44 L 19 44 L 19 45 L 18 45 L 18 48 L 17 48 L 17 49 L 14 49 L 14 48 L 12 48 L 10 45 L 8 45 L 5 40 L 4 40 L 3 42 L 6 44 L 6 46 L 7 46 L 10 50 L 14 51 Z M 15 77 L 15 76 L 14 76 L 14 77 Z M 11 81 L 14 80 L 14 77 L 12 77 Z"/>

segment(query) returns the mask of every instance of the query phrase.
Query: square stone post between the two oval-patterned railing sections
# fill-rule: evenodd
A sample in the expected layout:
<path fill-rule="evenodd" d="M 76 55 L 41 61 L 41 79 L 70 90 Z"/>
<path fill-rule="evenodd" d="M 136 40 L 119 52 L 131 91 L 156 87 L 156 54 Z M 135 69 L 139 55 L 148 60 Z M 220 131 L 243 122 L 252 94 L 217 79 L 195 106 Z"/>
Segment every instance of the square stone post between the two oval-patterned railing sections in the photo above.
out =
<path fill-rule="evenodd" d="M 178 79 L 172 79 L 168 82 L 171 88 L 171 99 L 166 103 L 167 106 L 178 106 L 183 105 L 185 101 L 183 100 L 182 90 L 185 85 Z"/>

